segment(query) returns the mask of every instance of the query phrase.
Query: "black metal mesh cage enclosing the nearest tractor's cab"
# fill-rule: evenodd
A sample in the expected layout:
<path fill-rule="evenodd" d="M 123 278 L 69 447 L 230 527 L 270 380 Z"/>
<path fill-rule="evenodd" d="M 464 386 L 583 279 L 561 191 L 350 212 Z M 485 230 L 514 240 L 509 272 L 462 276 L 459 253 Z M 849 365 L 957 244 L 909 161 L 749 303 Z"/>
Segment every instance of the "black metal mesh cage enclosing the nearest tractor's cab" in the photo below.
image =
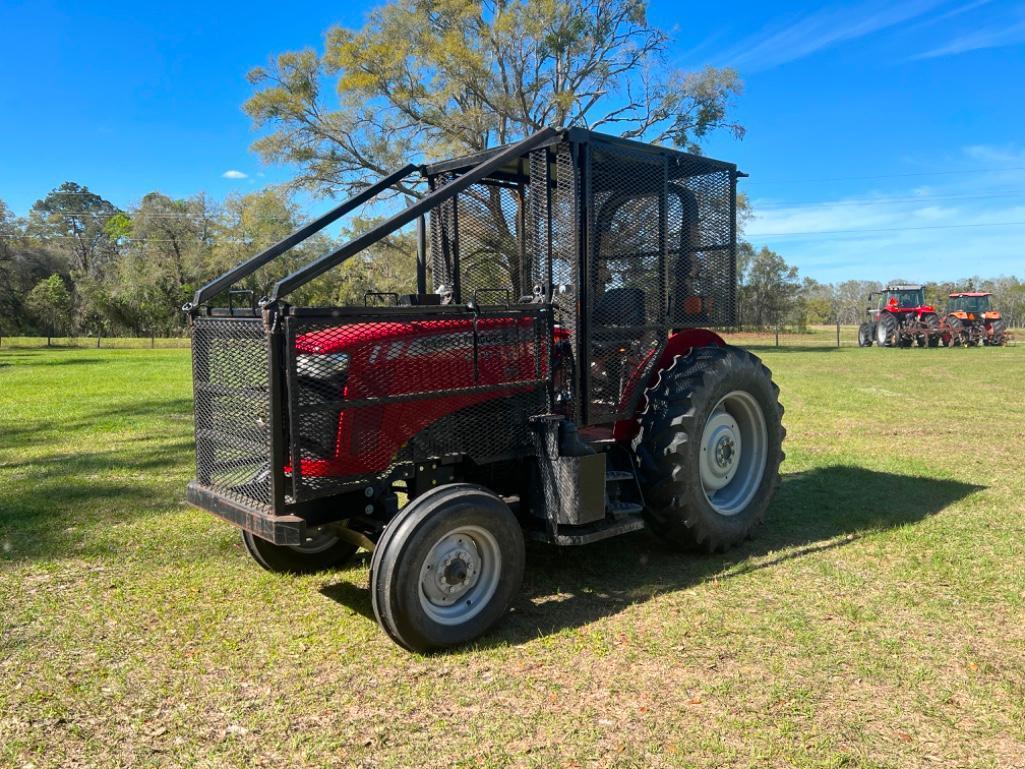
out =
<path fill-rule="evenodd" d="M 613 421 L 628 415 L 624 395 L 670 330 L 735 323 L 736 169 L 568 135 L 432 213 L 435 283 L 479 303 L 543 286 L 586 394 L 573 415 Z"/>

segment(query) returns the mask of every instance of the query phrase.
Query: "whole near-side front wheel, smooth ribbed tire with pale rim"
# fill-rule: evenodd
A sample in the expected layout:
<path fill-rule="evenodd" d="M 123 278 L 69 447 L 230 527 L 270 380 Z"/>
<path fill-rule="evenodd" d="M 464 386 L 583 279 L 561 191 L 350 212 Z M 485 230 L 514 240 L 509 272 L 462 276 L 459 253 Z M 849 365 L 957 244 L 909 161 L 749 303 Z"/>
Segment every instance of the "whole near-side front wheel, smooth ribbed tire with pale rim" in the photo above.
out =
<path fill-rule="evenodd" d="M 374 615 L 410 651 L 464 644 L 508 609 L 525 560 L 523 531 L 504 501 L 474 484 L 439 486 L 399 511 L 377 542 Z"/>

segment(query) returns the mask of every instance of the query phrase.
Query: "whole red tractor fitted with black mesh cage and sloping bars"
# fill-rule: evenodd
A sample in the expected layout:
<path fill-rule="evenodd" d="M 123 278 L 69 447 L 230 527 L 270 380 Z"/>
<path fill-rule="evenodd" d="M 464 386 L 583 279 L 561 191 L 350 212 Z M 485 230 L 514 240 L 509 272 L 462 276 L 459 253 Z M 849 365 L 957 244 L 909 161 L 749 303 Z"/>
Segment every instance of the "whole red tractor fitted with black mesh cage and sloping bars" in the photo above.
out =
<path fill-rule="evenodd" d="M 233 285 L 414 172 L 423 198 L 233 307 Z M 769 369 L 705 330 L 735 323 L 741 175 L 549 128 L 370 186 L 186 306 L 189 500 L 239 526 L 272 571 L 371 551 L 374 613 L 413 650 L 499 619 L 525 537 L 743 540 L 779 483 L 785 431 Z M 288 301 L 414 221 L 409 293 Z"/>

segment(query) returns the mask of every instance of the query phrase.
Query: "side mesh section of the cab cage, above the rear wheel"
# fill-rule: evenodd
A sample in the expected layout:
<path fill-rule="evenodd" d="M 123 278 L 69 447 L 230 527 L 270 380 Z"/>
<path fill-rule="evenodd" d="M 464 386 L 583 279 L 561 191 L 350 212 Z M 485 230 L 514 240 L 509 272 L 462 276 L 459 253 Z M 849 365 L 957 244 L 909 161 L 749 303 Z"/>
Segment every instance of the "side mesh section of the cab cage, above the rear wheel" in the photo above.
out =
<path fill-rule="evenodd" d="M 670 329 L 735 319 L 734 171 L 652 148 L 588 147 L 586 420 L 624 398 Z"/>

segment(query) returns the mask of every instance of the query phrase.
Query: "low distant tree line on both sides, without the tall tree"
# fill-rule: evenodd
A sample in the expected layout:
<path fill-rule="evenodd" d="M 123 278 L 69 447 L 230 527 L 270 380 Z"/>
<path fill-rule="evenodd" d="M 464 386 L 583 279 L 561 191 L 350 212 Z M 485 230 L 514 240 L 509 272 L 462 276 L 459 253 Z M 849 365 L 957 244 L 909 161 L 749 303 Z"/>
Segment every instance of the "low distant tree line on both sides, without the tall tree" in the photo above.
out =
<path fill-rule="evenodd" d="M 338 238 L 373 221 L 356 218 Z M 223 201 L 154 192 L 122 209 L 68 181 L 24 217 L 0 201 L 0 334 L 183 335 L 188 327 L 180 309 L 199 286 L 301 224 L 298 206 L 278 188 Z M 324 234 L 312 238 L 243 281 L 231 300 L 251 305 L 281 277 L 336 245 Z M 359 305 L 368 291 L 408 291 L 415 283 L 414 251 L 411 233 L 393 236 L 303 287 L 294 300 Z M 740 327 L 794 330 L 859 323 L 871 291 L 910 282 L 802 279 L 779 253 L 745 241 L 738 246 L 737 278 Z M 1025 324 L 1025 282 L 1015 277 L 924 285 L 927 302 L 941 310 L 951 291 L 990 291 L 1009 325 Z"/>

